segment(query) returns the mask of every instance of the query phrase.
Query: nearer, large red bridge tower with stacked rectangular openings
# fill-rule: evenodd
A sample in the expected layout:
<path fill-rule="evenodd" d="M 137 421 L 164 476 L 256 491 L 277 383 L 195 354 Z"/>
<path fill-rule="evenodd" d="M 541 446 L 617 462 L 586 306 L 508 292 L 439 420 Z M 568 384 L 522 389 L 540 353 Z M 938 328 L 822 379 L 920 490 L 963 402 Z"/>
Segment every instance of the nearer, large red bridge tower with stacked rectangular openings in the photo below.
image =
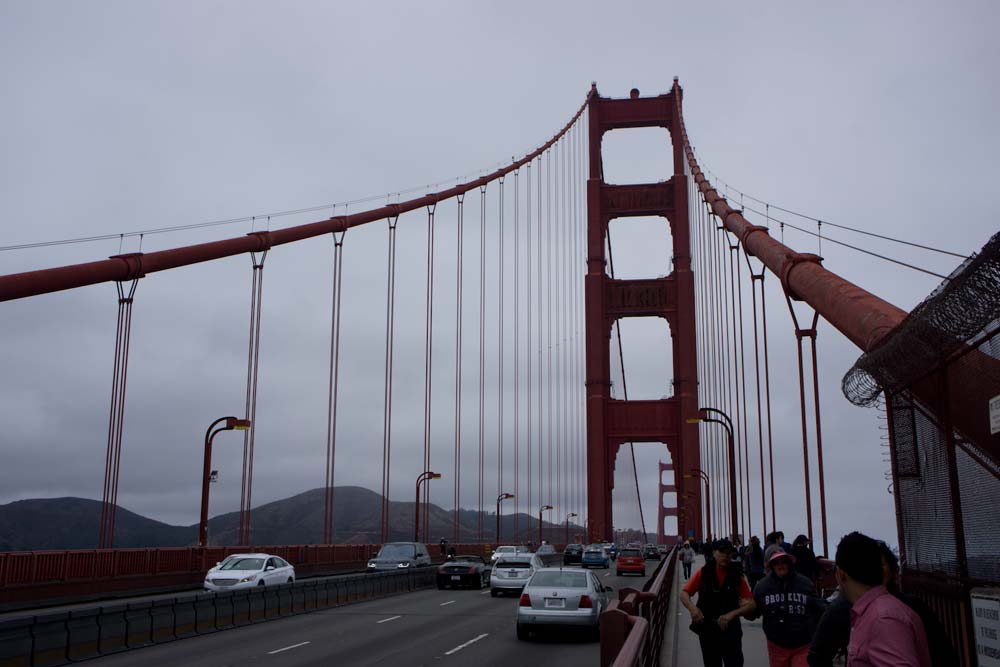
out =
<path fill-rule="evenodd" d="M 688 177 L 680 133 L 681 88 L 655 97 L 611 99 L 591 91 L 589 177 L 587 180 L 587 275 L 585 278 L 587 381 L 587 513 L 591 541 L 611 539 L 611 492 L 618 449 L 629 442 L 663 442 L 676 470 L 700 467 L 698 426 L 686 417 L 698 412 L 698 369 L 695 348 L 694 276 L 691 273 L 688 225 Z M 604 182 L 601 142 L 619 128 L 663 127 L 671 134 L 674 173 L 658 183 L 609 185 Z M 666 176 L 666 174 L 664 175 Z M 612 280 L 605 270 L 605 239 L 614 218 L 661 216 L 673 236 L 673 273 L 650 280 Z M 662 317 L 670 327 L 674 395 L 662 400 L 623 401 L 611 398 L 611 330 L 622 317 Z M 701 533 L 700 485 L 690 489 L 683 474 L 675 484 L 688 496 L 679 505 L 679 532 Z M 662 504 L 662 502 L 660 503 Z M 662 528 L 661 528 L 662 530 Z"/>

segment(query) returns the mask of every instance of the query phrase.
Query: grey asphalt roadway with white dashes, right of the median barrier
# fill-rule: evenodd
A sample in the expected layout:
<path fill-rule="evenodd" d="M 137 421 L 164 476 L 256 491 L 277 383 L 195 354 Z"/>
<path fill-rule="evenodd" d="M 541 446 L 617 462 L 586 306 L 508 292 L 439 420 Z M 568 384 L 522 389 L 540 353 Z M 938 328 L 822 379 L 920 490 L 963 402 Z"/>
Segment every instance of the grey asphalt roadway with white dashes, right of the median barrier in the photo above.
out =
<path fill-rule="evenodd" d="M 649 561 L 652 574 L 656 563 Z M 596 570 L 615 594 L 641 588 L 643 579 Z M 593 664 L 598 644 L 582 633 L 559 632 L 518 641 L 517 598 L 493 598 L 488 589 L 423 590 L 371 602 L 283 618 L 98 658 L 94 664 L 213 667 L 260 664 L 457 665 Z"/>

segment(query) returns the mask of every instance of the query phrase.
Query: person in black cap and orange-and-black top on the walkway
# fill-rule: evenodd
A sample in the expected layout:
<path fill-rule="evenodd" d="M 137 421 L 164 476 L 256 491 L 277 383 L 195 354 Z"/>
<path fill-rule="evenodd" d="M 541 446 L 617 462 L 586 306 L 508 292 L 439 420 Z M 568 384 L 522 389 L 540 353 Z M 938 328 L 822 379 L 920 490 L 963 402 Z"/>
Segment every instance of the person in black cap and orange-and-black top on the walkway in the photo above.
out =
<path fill-rule="evenodd" d="M 681 589 L 681 604 L 691 614 L 705 667 L 743 667 L 740 617 L 753 610 L 753 594 L 733 563 L 734 551 L 729 540 L 717 540 L 712 557 Z M 697 603 L 691 600 L 696 594 Z"/>

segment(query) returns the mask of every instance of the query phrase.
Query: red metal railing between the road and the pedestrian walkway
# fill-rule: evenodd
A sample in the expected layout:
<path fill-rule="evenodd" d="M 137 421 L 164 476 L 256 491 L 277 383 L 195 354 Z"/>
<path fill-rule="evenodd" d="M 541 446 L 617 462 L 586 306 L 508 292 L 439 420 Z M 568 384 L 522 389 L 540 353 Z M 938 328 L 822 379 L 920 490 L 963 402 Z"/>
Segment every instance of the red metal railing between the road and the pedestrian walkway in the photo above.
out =
<path fill-rule="evenodd" d="M 618 599 L 601 614 L 601 667 L 659 665 L 676 568 L 674 546 L 643 590 L 618 591 Z"/>

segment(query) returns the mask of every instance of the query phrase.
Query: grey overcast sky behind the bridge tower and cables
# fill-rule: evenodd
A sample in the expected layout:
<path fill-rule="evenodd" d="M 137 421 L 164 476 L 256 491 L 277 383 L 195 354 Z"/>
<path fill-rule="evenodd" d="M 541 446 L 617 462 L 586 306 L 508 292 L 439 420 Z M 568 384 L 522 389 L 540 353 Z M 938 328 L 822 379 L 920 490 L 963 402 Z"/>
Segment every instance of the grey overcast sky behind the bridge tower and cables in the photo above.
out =
<path fill-rule="evenodd" d="M 612 10 L 589 1 L 2 0 L 0 245 L 450 185 L 548 139 L 591 81 L 602 94 L 623 97 L 633 86 L 666 92 L 678 76 L 688 131 L 713 174 L 786 208 L 970 253 L 996 231 L 983 203 L 1000 177 L 998 13 L 991 2 L 779 2 L 763 9 L 624 2 Z M 615 132 L 605 144 L 608 180 L 670 176 L 662 130 Z M 469 202 L 465 348 L 473 356 L 465 362 L 471 393 L 463 460 L 472 463 L 478 195 Z M 432 462 L 446 478 L 435 482 L 432 499 L 450 506 L 454 203 L 442 204 L 438 215 Z M 487 242 L 495 248 L 490 215 Z M 619 275 L 669 271 L 664 229 L 656 221 L 612 225 Z M 423 214 L 400 221 L 392 495 L 401 500 L 412 494 L 423 434 L 425 230 Z M 249 231 L 249 223 L 239 223 L 146 236 L 142 250 Z M 939 273 L 957 262 L 824 231 Z M 773 225 L 772 233 L 778 235 Z M 352 230 L 345 244 L 336 479 L 376 491 L 385 240 L 385 225 L 376 223 Z M 791 230 L 785 240 L 801 251 L 818 249 L 814 238 Z M 329 239 L 316 239 L 282 246 L 267 259 L 255 504 L 323 484 L 331 248 Z M 138 250 L 138 239 L 126 239 L 122 250 Z M 0 273 L 118 252 L 118 240 L 4 251 Z M 822 254 L 827 268 L 904 309 L 938 283 L 829 242 Z M 495 290 L 490 280 L 487 289 Z M 777 281 L 768 290 L 778 521 L 794 535 L 805 529 L 794 337 Z M 141 281 L 119 491 L 124 507 L 173 523 L 197 520 L 204 430 L 216 417 L 242 411 L 249 292 L 246 257 Z M 0 304 L 0 502 L 100 498 L 115 311 L 112 285 Z M 487 317 L 488 405 L 497 395 L 496 317 Z M 627 321 L 622 335 L 630 395 L 666 393 L 666 326 Z M 895 542 L 879 413 L 851 406 L 840 392 L 859 351 L 825 323 L 819 349 L 831 542 L 852 529 Z M 495 432 L 495 412 L 487 428 Z M 240 440 L 217 440 L 213 467 L 221 482 L 213 487 L 213 514 L 238 508 Z M 495 452 L 495 436 L 487 447 Z M 636 452 L 652 530 L 654 466 L 666 449 L 639 445 Z M 495 459 L 488 468 L 487 498 L 496 492 Z M 629 469 L 620 459 L 619 526 L 638 525 Z M 464 506 L 474 506 L 474 477 L 471 467 L 463 470 Z M 751 490 L 759 493 L 754 484 Z"/>

